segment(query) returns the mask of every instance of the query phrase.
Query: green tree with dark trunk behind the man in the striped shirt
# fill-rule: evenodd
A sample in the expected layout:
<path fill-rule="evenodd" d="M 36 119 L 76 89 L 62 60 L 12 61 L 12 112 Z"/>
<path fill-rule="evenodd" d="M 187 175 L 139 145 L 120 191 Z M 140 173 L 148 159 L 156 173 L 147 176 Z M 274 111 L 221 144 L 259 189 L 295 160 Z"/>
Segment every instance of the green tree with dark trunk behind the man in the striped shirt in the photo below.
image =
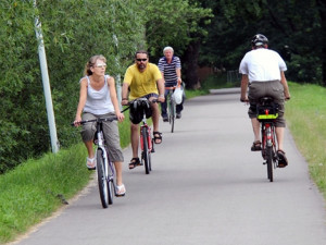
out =
<path fill-rule="evenodd" d="M 187 86 L 197 85 L 197 60 L 199 39 L 206 35 L 203 28 L 213 16 L 211 9 L 189 0 L 142 0 L 141 8 L 146 16 L 145 37 L 153 62 L 162 56 L 163 47 L 172 46 L 177 56 L 183 58 L 183 72 Z M 192 57 L 196 54 L 196 57 Z M 195 68 L 195 69 L 193 69 Z M 196 74 L 193 74 L 196 73 Z"/>

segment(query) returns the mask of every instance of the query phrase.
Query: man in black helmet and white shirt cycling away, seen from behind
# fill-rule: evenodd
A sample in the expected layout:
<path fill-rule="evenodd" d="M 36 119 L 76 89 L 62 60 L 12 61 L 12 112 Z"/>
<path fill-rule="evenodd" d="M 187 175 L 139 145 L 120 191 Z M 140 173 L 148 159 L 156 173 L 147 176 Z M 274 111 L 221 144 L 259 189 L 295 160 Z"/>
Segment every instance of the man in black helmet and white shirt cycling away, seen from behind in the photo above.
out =
<path fill-rule="evenodd" d="M 258 151 L 262 149 L 260 122 L 256 119 L 258 99 L 263 96 L 271 96 L 279 105 L 275 127 L 278 143 L 278 167 L 284 168 L 288 164 L 284 151 L 284 131 L 286 126 L 284 119 L 285 100 L 290 99 L 289 87 L 285 76 L 287 65 L 276 51 L 268 49 L 268 39 L 264 35 L 254 35 L 251 40 L 251 47 L 252 50 L 246 53 L 239 68 L 239 72 L 242 74 L 240 100 L 242 102 L 249 101 L 250 103 L 248 114 L 251 119 L 254 134 L 251 150 Z M 248 87 L 249 91 L 247 96 Z"/>

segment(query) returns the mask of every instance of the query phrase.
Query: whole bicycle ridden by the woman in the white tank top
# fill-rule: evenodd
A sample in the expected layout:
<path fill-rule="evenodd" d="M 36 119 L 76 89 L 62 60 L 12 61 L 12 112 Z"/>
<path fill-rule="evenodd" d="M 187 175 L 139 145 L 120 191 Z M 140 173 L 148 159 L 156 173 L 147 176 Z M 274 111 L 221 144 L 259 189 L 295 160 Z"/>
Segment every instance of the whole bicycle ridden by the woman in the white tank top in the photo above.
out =
<path fill-rule="evenodd" d="M 106 149 L 105 139 L 103 136 L 103 122 L 112 122 L 117 120 L 115 115 L 108 118 L 98 118 L 92 120 L 80 121 L 80 124 L 96 122 L 97 132 L 95 134 L 93 144 L 97 146 L 97 175 L 101 204 L 103 208 L 108 208 L 113 204 L 113 193 L 117 196 L 115 186 L 115 169 L 113 162 L 110 160 L 109 151 Z M 74 123 L 72 123 L 74 125 Z"/>

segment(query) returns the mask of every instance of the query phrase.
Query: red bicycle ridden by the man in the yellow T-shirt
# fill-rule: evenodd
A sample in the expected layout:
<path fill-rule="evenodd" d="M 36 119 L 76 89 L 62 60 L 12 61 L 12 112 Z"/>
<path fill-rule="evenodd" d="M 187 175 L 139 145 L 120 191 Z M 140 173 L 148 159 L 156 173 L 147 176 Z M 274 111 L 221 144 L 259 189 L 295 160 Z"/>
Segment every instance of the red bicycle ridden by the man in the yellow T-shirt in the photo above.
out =
<path fill-rule="evenodd" d="M 128 110 L 130 107 L 136 106 L 137 107 L 137 113 L 139 113 L 140 122 L 142 124 L 140 125 L 140 149 L 141 149 L 141 162 L 140 164 L 145 166 L 145 172 L 146 174 L 149 174 L 152 170 L 152 163 L 151 163 L 151 154 L 155 152 L 154 150 L 154 144 L 153 138 L 151 134 L 151 127 L 147 123 L 147 119 L 150 117 L 147 109 L 151 110 L 150 105 L 151 102 L 158 102 L 156 99 L 153 99 L 149 101 L 147 98 L 138 98 L 130 102 L 128 102 L 128 108 L 124 109 L 123 111 Z M 151 114 L 151 111 L 150 111 Z"/>

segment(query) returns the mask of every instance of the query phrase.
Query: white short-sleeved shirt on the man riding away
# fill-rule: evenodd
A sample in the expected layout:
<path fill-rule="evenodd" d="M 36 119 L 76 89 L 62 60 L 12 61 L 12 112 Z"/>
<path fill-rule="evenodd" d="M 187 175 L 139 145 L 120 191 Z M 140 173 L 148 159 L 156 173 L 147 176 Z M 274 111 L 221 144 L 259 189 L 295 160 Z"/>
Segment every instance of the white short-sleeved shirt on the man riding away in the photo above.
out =
<path fill-rule="evenodd" d="M 241 60 L 239 73 L 249 77 L 249 83 L 280 81 L 280 72 L 286 71 L 287 65 L 281 57 L 271 49 L 259 48 L 246 53 Z"/>

